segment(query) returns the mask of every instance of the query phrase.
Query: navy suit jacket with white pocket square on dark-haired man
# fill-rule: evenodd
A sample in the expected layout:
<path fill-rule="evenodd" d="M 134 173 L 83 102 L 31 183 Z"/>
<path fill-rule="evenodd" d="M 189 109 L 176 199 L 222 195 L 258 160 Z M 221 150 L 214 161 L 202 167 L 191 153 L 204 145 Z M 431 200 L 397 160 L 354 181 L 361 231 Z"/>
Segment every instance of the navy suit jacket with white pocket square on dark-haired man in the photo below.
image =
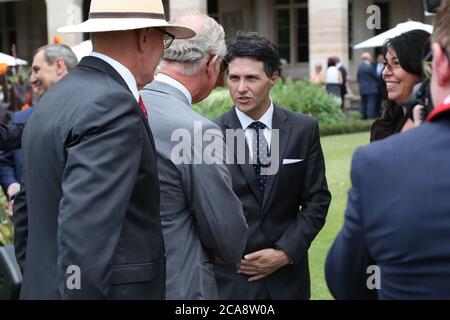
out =
<path fill-rule="evenodd" d="M 222 130 L 242 129 L 234 108 L 215 122 Z M 319 127 L 312 117 L 277 106 L 272 127 L 280 130 L 280 167 L 276 175 L 268 176 L 264 197 L 251 164 L 230 165 L 233 190 L 244 206 L 249 228 L 245 254 L 279 247 L 294 263 L 257 281 L 259 284 L 249 283 L 247 276 L 236 274 L 229 266 L 216 265 L 221 298 L 254 299 L 261 283 L 272 299 L 310 297 L 308 249 L 325 223 L 331 200 Z M 283 159 L 303 161 L 282 164 Z"/>

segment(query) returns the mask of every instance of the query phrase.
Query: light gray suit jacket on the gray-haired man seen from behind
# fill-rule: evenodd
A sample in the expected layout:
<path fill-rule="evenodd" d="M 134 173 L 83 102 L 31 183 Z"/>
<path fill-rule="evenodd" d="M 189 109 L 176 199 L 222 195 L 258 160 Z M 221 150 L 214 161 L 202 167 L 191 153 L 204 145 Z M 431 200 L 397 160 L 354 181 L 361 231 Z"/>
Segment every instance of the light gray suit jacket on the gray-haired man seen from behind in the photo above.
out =
<path fill-rule="evenodd" d="M 167 257 L 166 298 L 217 299 L 214 255 L 237 268 L 247 225 L 227 166 L 190 163 L 194 149 L 203 154 L 208 145 L 194 139 L 194 130 L 199 134 L 201 129 L 208 138 L 221 141 L 223 134 L 214 123 L 194 112 L 175 87 L 154 81 L 141 91 L 141 96 L 148 109 L 158 157 Z M 183 156 L 188 163 L 176 164 L 172 156 L 181 141 L 178 137 L 171 141 L 177 129 L 191 137 L 183 140 L 187 143 Z"/>

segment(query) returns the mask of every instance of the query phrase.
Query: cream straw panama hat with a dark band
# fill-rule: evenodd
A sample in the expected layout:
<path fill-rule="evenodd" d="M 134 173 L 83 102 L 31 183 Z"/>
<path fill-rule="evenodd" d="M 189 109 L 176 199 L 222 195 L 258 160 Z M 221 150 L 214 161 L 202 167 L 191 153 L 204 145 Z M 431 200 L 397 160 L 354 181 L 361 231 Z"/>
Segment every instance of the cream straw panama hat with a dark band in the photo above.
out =
<path fill-rule="evenodd" d="M 58 28 L 61 33 L 108 32 L 161 27 L 186 39 L 195 36 L 189 28 L 169 24 L 161 0 L 92 0 L 85 22 Z"/>

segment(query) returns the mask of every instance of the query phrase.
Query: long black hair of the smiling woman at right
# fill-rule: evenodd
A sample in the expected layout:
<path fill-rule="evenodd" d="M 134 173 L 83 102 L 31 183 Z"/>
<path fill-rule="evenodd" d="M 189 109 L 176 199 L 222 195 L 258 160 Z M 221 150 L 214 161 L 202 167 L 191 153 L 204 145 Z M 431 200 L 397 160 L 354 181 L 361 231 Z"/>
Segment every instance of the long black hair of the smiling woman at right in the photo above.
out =
<path fill-rule="evenodd" d="M 383 55 L 386 56 L 389 50 L 395 51 L 400 66 L 411 74 L 423 78 L 422 59 L 424 54 L 430 51 L 430 34 L 424 30 L 411 30 L 402 33 L 394 38 L 386 40 L 383 45 Z M 383 97 L 387 99 L 387 97 Z M 388 136 L 400 132 L 407 120 L 402 106 L 395 101 L 385 100 L 383 113 L 375 120 L 371 141 L 381 140 Z"/>

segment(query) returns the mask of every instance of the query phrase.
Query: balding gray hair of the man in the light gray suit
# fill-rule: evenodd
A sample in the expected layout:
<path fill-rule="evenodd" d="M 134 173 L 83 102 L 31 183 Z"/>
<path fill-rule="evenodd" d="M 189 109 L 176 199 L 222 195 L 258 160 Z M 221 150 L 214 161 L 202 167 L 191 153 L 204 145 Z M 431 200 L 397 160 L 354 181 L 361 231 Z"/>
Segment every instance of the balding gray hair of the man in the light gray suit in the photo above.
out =
<path fill-rule="evenodd" d="M 203 23 L 198 23 L 199 21 Z M 213 18 L 204 14 L 186 15 L 171 21 L 178 25 L 190 27 L 196 32 L 190 39 L 176 39 L 172 45 L 164 51 L 164 61 L 181 63 L 186 75 L 192 75 L 199 71 L 204 60 L 211 54 L 225 57 L 227 47 L 225 44 L 225 31 Z"/>

